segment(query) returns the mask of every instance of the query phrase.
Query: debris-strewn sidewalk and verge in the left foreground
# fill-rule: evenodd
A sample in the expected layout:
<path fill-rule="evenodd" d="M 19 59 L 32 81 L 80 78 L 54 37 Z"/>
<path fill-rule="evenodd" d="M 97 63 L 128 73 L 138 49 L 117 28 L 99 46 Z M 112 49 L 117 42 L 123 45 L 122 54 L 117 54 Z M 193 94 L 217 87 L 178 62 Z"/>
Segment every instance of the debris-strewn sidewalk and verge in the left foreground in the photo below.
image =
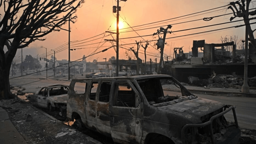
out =
<path fill-rule="evenodd" d="M 26 101 L 0 100 L 0 106 L 1 144 L 102 144 Z"/>

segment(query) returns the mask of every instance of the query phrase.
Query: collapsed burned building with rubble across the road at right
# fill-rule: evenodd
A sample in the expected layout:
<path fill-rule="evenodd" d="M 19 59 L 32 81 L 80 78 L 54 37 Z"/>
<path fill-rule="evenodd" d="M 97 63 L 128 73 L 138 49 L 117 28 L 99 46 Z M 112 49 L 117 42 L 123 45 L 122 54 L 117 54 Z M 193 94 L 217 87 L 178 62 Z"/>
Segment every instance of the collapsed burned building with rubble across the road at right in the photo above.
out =
<path fill-rule="evenodd" d="M 224 46 L 231 49 L 227 51 Z M 248 77 L 256 76 L 256 55 L 253 52 L 255 48 L 249 44 Z M 206 44 L 205 40 L 193 41 L 192 53 L 185 53 L 186 58 L 180 55 L 175 54 L 175 59 L 165 61 L 164 65 L 166 73 L 180 82 L 188 83 L 189 76 L 208 79 L 213 71 L 216 74 L 244 75 L 244 50 L 236 50 L 234 42 Z"/>

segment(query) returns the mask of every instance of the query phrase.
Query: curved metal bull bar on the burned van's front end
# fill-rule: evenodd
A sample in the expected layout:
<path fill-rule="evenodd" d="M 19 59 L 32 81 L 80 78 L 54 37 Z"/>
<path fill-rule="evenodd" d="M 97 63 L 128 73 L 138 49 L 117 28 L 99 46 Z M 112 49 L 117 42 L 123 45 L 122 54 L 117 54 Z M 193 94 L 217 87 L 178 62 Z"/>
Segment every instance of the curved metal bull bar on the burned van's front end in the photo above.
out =
<path fill-rule="evenodd" d="M 214 137 L 213 137 L 213 130 L 212 130 L 212 122 L 214 119 L 220 117 L 220 116 L 223 116 L 224 114 L 226 114 L 227 112 L 229 112 L 231 109 L 233 111 L 233 116 L 234 116 L 234 119 L 235 119 L 235 123 L 236 123 L 236 128 L 238 128 L 238 122 L 237 122 L 237 118 L 236 118 L 236 111 L 235 111 L 235 106 L 230 106 L 230 105 L 227 105 L 229 108 L 226 109 L 225 107 L 225 110 L 215 116 L 212 116 L 210 118 L 210 120 L 208 122 L 205 122 L 203 124 L 186 124 L 184 125 L 184 127 L 182 128 L 181 130 L 181 138 L 182 138 L 182 143 L 185 144 L 186 141 L 185 141 L 185 130 L 188 128 L 188 127 L 204 127 L 204 126 L 207 126 L 207 125 L 210 125 L 210 132 L 211 132 L 211 140 L 212 140 L 212 144 L 215 144 L 215 141 L 214 141 Z"/>

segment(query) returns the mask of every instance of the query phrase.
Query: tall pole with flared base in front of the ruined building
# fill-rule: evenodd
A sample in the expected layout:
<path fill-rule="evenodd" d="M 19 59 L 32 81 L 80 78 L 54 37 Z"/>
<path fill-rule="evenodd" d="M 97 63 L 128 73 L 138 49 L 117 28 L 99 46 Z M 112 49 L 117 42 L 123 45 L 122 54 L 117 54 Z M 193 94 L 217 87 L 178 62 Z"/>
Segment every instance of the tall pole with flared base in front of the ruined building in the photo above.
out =
<path fill-rule="evenodd" d="M 242 86 L 242 92 L 250 92 L 249 85 L 247 82 L 248 73 L 248 27 L 249 27 L 249 4 L 250 0 L 246 0 L 246 13 L 245 13 L 245 52 L 244 52 L 244 84 Z"/>

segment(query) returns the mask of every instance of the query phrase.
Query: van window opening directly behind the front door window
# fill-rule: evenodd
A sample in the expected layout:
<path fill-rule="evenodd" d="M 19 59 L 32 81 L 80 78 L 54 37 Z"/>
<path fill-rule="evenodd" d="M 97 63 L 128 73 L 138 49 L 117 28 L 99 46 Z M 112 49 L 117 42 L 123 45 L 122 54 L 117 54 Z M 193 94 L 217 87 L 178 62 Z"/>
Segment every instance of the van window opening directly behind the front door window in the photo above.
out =
<path fill-rule="evenodd" d="M 111 82 L 102 82 L 100 84 L 99 101 L 108 102 L 110 94 Z"/>

